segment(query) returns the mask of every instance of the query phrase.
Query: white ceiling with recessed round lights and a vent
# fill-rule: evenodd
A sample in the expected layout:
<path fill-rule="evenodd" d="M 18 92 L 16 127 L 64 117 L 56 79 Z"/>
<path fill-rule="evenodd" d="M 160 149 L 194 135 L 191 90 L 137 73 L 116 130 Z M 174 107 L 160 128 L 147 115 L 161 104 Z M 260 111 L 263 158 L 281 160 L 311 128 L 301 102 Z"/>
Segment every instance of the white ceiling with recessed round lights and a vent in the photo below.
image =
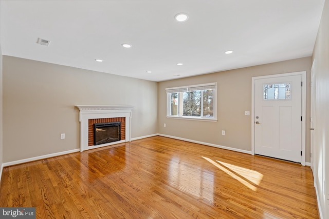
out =
<path fill-rule="evenodd" d="M 3 55 L 159 82 L 310 56 L 323 4 L 1 0 L 0 43 Z M 176 22 L 179 12 L 189 19 Z M 36 44 L 38 37 L 50 45 Z M 227 55 L 227 50 L 233 53 Z"/>

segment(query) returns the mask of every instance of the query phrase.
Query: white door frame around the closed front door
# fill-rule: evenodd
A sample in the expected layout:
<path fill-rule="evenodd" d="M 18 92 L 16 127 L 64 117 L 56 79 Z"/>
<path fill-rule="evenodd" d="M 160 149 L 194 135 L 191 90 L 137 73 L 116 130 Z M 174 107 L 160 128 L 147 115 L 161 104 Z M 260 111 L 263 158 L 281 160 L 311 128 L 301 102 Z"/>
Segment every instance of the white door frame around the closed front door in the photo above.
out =
<path fill-rule="evenodd" d="M 294 76 L 294 75 L 301 75 L 302 77 L 302 130 L 301 130 L 301 165 L 305 166 L 305 157 L 306 157 L 306 71 L 299 71 L 299 72 L 291 72 L 291 73 L 283 73 L 283 74 L 272 74 L 272 75 L 264 75 L 264 76 L 257 76 L 251 77 L 251 154 L 255 154 L 255 80 L 257 79 L 265 79 L 271 77 L 285 77 L 285 76 Z"/>

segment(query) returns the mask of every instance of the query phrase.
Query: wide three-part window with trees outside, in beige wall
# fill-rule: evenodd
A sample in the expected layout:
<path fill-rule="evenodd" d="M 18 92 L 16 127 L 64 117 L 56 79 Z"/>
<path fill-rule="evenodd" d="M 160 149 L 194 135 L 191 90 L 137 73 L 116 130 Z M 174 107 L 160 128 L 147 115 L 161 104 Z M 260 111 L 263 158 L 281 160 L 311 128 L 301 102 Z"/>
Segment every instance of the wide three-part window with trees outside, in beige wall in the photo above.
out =
<path fill-rule="evenodd" d="M 166 88 L 167 116 L 216 120 L 217 83 Z"/>

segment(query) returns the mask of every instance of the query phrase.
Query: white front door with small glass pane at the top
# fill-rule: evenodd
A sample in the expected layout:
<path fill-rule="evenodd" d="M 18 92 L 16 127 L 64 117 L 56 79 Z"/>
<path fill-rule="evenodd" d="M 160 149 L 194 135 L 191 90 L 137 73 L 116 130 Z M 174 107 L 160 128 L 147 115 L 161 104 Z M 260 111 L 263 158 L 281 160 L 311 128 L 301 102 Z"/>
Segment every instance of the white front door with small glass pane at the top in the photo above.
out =
<path fill-rule="evenodd" d="M 302 76 L 254 80 L 254 153 L 301 163 Z"/>

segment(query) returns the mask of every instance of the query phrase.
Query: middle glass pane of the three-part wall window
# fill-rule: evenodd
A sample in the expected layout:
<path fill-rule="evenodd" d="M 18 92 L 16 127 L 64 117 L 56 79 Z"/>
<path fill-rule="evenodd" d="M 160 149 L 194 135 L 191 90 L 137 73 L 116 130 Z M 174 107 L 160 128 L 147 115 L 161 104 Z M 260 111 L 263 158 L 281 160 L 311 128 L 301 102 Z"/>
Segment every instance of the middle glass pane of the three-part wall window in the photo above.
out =
<path fill-rule="evenodd" d="M 201 91 L 183 93 L 183 113 L 185 116 L 201 116 Z"/>

